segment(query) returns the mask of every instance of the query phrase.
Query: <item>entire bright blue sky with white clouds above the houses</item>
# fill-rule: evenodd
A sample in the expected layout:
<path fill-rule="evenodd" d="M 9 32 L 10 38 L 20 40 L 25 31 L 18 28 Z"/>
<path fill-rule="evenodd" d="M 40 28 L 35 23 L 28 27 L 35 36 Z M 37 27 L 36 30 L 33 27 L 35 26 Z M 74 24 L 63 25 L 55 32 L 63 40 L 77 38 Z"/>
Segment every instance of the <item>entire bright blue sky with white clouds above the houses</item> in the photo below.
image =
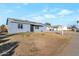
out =
<path fill-rule="evenodd" d="M 79 20 L 78 3 L 0 3 L 0 25 L 7 18 L 68 26 Z"/>

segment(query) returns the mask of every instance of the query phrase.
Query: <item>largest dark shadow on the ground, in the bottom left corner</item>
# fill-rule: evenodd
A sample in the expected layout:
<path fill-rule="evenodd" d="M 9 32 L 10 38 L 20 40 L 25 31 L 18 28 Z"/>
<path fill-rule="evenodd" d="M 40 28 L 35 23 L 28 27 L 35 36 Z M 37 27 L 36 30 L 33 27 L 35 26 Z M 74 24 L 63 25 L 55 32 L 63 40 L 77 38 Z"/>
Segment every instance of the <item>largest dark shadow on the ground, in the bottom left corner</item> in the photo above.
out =
<path fill-rule="evenodd" d="M 11 56 L 14 53 L 15 48 L 18 46 L 18 42 L 9 42 L 0 45 L 0 56 Z"/>

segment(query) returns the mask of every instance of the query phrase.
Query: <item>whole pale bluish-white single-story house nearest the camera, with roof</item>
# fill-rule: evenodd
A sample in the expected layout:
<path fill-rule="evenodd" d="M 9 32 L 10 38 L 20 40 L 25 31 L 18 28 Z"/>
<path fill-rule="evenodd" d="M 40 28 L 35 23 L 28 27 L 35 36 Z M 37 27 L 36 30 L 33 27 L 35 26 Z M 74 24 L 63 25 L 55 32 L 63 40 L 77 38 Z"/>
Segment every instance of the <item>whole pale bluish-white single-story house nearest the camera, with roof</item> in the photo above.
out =
<path fill-rule="evenodd" d="M 19 32 L 45 32 L 46 26 L 42 23 L 32 22 L 28 20 L 19 20 L 7 18 L 8 33 Z"/>

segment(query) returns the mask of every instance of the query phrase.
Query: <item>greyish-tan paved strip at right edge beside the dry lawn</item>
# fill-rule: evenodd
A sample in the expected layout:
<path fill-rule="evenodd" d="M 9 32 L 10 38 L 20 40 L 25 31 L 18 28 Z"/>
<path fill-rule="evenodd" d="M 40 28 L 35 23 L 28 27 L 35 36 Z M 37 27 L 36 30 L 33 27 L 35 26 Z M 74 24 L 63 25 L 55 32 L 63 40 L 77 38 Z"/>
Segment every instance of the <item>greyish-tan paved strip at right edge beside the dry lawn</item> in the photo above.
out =
<path fill-rule="evenodd" d="M 79 33 L 75 33 L 73 39 L 59 56 L 79 56 Z"/>

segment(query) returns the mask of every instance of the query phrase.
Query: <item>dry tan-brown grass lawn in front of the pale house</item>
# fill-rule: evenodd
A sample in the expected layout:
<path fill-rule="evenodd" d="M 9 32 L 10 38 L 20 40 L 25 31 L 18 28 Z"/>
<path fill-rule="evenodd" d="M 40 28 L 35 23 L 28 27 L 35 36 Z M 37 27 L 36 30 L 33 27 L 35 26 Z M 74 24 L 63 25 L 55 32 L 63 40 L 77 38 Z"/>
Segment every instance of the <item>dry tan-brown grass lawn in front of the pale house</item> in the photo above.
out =
<path fill-rule="evenodd" d="M 72 34 L 72 32 L 71 32 Z M 68 43 L 72 35 L 65 32 L 61 36 L 52 32 L 42 33 L 19 33 L 9 37 L 12 41 L 19 42 L 19 46 L 15 49 L 18 56 L 26 55 L 56 55 Z"/>

